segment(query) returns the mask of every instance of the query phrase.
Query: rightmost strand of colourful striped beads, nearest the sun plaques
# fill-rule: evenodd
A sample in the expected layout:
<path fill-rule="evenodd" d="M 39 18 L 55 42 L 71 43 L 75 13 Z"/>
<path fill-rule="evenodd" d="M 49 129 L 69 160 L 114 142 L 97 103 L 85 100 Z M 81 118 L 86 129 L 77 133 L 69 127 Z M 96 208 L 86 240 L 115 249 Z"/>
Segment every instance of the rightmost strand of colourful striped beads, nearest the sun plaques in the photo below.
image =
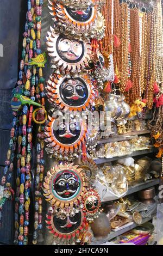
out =
<path fill-rule="evenodd" d="M 41 54 L 41 15 L 42 15 L 42 4 L 43 1 L 36 0 L 35 1 L 35 20 L 36 20 L 36 42 L 37 42 L 37 51 Z M 42 106 L 45 105 L 45 93 L 44 93 L 44 85 L 45 79 L 43 78 L 42 68 L 36 69 L 36 99 L 39 100 Z M 44 163 L 43 160 L 43 148 L 44 148 L 44 141 L 43 141 L 43 125 L 39 125 L 37 137 L 38 143 L 36 146 L 37 150 L 37 166 L 35 172 L 35 214 L 34 214 L 34 233 L 33 233 L 33 244 L 37 243 L 38 232 L 40 233 L 42 229 L 42 181 L 43 181 L 43 173 L 44 173 Z"/>

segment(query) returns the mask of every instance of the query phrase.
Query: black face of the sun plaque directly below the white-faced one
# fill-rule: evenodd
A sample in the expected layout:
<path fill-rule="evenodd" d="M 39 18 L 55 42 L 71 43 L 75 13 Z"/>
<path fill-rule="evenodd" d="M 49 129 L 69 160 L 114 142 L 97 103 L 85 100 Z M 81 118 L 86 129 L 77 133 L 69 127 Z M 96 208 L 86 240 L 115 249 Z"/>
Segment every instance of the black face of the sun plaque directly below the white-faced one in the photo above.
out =
<path fill-rule="evenodd" d="M 81 78 L 66 79 L 60 86 L 60 96 L 66 105 L 79 107 L 87 101 L 89 92 Z"/>

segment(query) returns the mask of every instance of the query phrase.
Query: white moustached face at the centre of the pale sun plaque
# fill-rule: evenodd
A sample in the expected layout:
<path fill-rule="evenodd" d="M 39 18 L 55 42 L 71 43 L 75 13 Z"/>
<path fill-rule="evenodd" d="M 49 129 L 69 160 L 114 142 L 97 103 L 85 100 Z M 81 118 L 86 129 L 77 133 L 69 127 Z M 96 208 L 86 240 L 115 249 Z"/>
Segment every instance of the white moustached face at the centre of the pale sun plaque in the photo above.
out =
<path fill-rule="evenodd" d="M 68 38 L 61 38 L 58 43 L 58 50 L 60 56 L 67 62 L 76 62 L 83 54 L 82 42 L 78 40 L 70 40 Z"/>

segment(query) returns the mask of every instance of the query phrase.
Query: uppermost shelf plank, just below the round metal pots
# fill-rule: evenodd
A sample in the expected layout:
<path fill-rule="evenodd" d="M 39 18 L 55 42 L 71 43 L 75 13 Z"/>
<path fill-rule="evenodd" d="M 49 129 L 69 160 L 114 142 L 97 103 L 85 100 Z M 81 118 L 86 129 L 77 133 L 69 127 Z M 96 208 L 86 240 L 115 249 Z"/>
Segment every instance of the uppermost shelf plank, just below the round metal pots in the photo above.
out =
<path fill-rule="evenodd" d="M 150 130 L 134 131 L 134 132 L 128 132 L 128 133 L 122 134 L 122 135 L 112 135 L 108 139 L 100 139 L 98 141 L 98 144 L 117 142 L 117 141 L 127 141 L 129 139 L 138 138 L 138 135 L 145 135 L 148 133 L 151 133 L 151 131 Z"/>

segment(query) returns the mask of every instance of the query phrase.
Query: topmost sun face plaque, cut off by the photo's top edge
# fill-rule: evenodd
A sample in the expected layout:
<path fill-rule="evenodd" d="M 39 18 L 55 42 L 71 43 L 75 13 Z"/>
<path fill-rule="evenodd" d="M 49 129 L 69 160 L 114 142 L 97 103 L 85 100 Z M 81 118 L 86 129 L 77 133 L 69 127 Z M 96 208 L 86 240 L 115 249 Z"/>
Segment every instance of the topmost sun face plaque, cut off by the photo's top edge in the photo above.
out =
<path fill-rule="evenodd" d="M 90 38 L 95 30 L 97 20 L 97 5 L 86 4 L 81 8 L 74 5 L 63 5 L 57 1 L 49 1 L 52 6 L 50 14 L 54 16 L 55 29 L 64 34 L 70 34 L 74 38 Z"/>

